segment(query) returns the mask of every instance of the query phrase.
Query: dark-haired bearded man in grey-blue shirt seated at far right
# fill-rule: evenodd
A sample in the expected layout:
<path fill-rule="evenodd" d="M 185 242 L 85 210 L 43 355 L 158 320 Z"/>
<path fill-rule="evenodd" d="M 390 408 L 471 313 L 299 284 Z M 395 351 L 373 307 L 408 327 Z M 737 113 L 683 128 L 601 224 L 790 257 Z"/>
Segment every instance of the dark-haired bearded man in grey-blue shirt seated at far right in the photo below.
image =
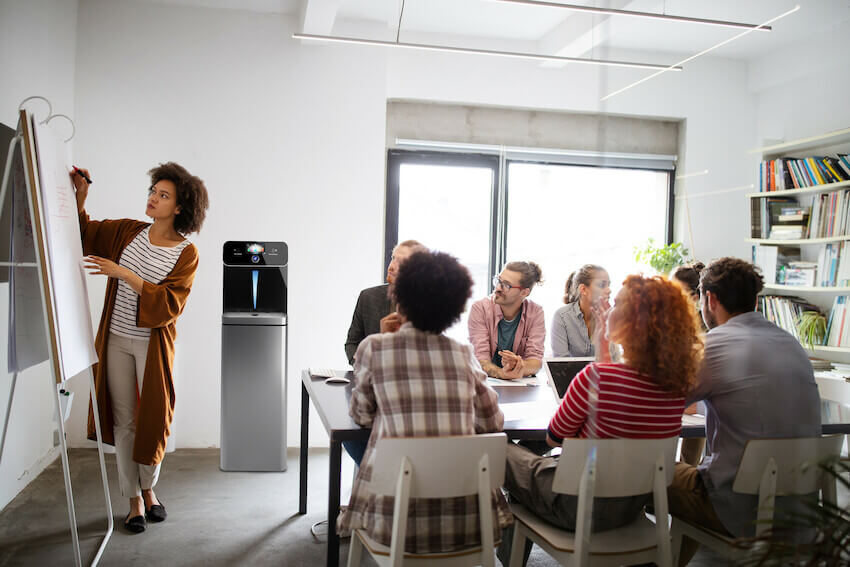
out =
<path fill-rule="evenodd" d="M 820 396 L 806 352 L 754 312 L 762 285 L 755 266 L 737 258 L 715 260 L 700 274 L 710 331 L 687 403 L 705 401 L 710 455 L 699 467 L 677 463 L 668 490 L 671 514 L 735 537 L 755 534 L 757 497 L 732 491 L 747 440 L 821 434 Z M 679 564 L 697 548 L 686 538 Z"/>

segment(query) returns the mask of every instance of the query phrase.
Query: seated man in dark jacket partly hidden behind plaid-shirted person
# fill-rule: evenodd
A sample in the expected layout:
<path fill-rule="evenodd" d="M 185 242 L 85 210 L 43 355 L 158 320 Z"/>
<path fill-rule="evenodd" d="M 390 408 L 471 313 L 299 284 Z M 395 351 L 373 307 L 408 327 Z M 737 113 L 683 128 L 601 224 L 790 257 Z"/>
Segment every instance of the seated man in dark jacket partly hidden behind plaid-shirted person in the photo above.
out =
<path fill-rule="evenodd" d="M 401 263 L 414 252 L 425 250 L 427 248 L 416 240 L 398 243 L 393 248 L 390 265 L 387 266 L 387 283 L 360 292 L 354 315 L 351 317 L 351 326 L 348 328 L 348 338 L 345 340 L 345 356 L 348 357 L 349 364 L 354 364 L 354 353 L 367 336 L 398 329 L 398 314 L 394 313 L 395 305 L 389 297 L 390 285 L 395 280 Z"/>

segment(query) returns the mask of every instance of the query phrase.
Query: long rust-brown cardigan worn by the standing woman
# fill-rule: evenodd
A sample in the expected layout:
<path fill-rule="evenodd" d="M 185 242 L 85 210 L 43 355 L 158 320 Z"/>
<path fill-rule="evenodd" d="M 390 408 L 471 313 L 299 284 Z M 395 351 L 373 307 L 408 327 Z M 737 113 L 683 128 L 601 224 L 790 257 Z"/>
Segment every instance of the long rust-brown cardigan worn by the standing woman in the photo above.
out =
<path fill-rule="evenodd" d="M 149 225 L 150 223 L 131 219 L 92 221 L 83 211 L 80 213 L 83 253 L 101 256 L 118 263 L 124 248 Z M 151 330 L 136 416 L 136 441 L 133 445 L 133 460 L 143 465 L 155 465 L 162 461 L 165 454 L 165 443 L 174 417 L 172 366 L 174 340 L 177 338 L 175 323 L 186 305 L 186 298 L 192 289 L 192 280 L 195 279 L 197 268 L 198 251 L 194 244 L 190 244 L 180 253 L 171 273 L 159 284 L 144 282 L 142 294 L 139 296 L 136 325 L 148 327 Z M 118 280 L 109 278 L 106 284 L 103 315 L 100 318 L 94 344 L 99 360 L 93 370 L 100 431 L 103 441 L 110 445 L 115 444 L 115 439 L 112 403 L 106 380 L 106 347 L 109 340 L 109 322 L 117 293 Z M 88 438 L 92 440 L 96 438 L 91 403 L 89 403 Z"/>

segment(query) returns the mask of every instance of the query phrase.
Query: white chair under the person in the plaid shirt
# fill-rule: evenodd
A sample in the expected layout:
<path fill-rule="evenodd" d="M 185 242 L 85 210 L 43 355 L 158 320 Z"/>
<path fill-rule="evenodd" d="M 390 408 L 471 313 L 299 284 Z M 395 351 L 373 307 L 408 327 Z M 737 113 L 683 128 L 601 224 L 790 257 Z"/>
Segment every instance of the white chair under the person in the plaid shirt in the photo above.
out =
<path fill-rule="evenodd" d="M 506 444 L 504 433 L 379 439 L 369 487 L 375 494 L 395 497 L 390 546 L 379 544 L 364 530 L 354 530 L 348 567 L 360 565 L 364 548 L 381 567 L 493 567 L 496 554 L 491 494 L 505 479 Z M 472 494 L 478 495 L 480 546 L 448 553 L 404 552 L 411 498 L 454 498 Z"/>

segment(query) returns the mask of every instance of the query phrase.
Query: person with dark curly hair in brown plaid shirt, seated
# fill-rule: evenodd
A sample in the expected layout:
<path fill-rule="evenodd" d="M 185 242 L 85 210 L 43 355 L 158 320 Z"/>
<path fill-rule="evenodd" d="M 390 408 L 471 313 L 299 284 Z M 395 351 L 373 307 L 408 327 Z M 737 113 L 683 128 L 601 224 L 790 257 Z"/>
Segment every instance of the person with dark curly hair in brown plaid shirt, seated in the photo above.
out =
<path fill-rule="evenodd" d="M 417 252 L 399 268 L 394 283 L 398 314 L 395 333 L 366 337 L 354 357 L 350 413 L 372 435 L 354 480 L 340 532 L 363 528 L 390 544 L 392 496 L 369 490 L 375 444 L 381 437 L 435 437 L 501 431 L 498 396 L 472 346 L 443 332 L 460 318 L 472 291 L 469 271 L 452 256 Z M 501 490 L 492 494 L 494 536 L 511 523 Z M 413 499 L 405 551 L 450 552 L 480 544 L 477 496 Z M 445 526 L 452 526 L 447 537 Z"/>

